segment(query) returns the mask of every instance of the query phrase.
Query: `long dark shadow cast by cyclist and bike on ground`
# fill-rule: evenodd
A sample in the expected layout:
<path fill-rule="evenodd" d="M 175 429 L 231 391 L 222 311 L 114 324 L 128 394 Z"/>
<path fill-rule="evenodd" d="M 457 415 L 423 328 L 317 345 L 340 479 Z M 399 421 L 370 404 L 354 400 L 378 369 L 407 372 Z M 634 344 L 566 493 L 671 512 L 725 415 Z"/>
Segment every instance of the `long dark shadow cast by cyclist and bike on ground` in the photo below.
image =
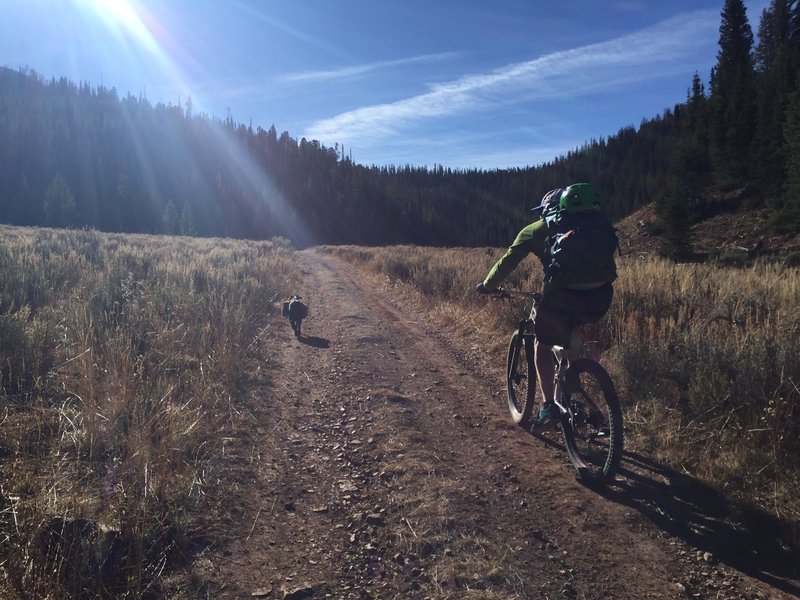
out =
<path fill-rule="evenodd" d="M 566 453 L 563 444 L 531 434 Z M 638 511 L 655 526 L 713 560 L 787 594 L 800 596 L 800 548 L 796 524 L 736 502 L 689 475 L 635 452 L 625 452 L 617 476 L 604 486 L 583 483 L 597 494 Z"/>

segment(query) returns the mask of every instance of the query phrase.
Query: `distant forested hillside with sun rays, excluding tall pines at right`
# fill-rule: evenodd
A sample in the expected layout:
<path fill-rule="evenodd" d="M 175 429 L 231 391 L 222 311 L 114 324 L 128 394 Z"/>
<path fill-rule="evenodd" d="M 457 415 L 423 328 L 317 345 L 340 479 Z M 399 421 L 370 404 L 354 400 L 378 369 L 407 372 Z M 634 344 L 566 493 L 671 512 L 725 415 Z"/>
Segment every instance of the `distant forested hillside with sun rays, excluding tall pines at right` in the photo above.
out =
<path fill-rule="evenodd" d="M 651 199 L 674 129 L 667 115 L 544 167 L 484 172 L 365 167 L 274 127 L 193 114 L 191 102 L 154 106 L 33 72 L 0 72 L 0 107 L 6 223 L 299 245 L 506 243 L 544 191 L 577 179 L 624 214 Z"/>

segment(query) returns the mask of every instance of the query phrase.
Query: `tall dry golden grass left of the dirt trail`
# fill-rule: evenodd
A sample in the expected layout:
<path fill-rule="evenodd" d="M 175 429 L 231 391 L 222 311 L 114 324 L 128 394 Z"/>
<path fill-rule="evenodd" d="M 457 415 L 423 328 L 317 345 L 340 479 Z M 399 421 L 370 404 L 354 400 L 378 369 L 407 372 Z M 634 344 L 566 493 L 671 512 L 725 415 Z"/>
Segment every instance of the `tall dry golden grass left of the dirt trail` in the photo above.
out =
<path fill-rule="evenodd" d="M 292 252 L 0 227 L 0 596 L 160 596 Z"/>

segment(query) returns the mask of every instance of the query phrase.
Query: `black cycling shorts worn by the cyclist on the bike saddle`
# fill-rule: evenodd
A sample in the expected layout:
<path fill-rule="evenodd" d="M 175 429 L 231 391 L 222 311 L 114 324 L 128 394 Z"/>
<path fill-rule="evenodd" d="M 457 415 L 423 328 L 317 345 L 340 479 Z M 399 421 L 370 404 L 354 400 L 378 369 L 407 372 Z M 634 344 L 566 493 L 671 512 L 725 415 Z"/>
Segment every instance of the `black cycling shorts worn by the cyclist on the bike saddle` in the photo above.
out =
<path fill-rule="evenodd" d="M 613 297 L 610 283 L 593 290 L 545 290 L 533 324 L 536 339 L 547 346 L 569 347 L 572 330 L 603 318 Z"/>

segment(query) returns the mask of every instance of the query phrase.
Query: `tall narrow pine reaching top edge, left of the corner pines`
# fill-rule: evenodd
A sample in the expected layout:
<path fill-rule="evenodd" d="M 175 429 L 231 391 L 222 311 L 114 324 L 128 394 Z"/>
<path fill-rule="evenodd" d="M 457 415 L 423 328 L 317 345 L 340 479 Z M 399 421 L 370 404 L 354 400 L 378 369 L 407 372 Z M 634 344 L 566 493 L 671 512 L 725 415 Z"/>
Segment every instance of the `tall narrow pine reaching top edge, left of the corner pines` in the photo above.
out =
<path fill-rule="evenodd" d="M 753 31 L 742 0 L 725 0 L 711 86 L 711 144 L 724 184 L 742 185 L 753 139 Z"/>

